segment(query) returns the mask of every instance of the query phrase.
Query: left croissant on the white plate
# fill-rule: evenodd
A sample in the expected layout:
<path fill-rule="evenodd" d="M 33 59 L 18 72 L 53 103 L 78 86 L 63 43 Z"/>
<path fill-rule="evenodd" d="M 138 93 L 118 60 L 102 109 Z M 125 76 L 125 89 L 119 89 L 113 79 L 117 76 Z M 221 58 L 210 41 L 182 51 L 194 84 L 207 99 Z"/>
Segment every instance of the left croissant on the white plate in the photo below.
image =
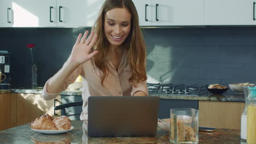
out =
<path fill-rule="evenodd" d="M 44 130 L 57 130 L 53 121 L 47 117 L 36 118 L 35 121 L 31 122 L 32 129 L 44 129 Z"/>

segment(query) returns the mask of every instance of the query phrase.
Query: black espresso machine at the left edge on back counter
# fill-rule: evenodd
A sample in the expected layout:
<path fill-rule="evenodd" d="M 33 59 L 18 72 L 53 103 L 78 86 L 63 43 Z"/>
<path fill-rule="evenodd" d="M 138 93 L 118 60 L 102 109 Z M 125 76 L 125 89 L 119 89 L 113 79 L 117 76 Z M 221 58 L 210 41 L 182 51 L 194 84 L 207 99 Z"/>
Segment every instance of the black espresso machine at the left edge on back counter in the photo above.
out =
<path fill-rule="evenodd" d="M 0 51 L 0 71 L 2 72 L 0 89 L 9 89 L 10 88 L 10 53 L 8 51 Z"/>

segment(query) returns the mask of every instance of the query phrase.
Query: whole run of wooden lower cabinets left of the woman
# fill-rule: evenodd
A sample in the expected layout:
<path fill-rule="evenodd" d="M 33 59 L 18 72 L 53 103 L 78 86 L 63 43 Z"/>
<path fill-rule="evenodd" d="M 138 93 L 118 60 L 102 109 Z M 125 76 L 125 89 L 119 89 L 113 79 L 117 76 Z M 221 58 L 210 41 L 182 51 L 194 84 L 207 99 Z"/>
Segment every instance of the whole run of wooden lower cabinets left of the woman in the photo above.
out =
<path fill-rule="evenodd" d="M 56 99 L 61 101 L 60 95 Z M 54 116 L 54 100 L 44 100 L 41 94 L 0 94 L 0 130 L 31 123 L 44 113 Z"/>

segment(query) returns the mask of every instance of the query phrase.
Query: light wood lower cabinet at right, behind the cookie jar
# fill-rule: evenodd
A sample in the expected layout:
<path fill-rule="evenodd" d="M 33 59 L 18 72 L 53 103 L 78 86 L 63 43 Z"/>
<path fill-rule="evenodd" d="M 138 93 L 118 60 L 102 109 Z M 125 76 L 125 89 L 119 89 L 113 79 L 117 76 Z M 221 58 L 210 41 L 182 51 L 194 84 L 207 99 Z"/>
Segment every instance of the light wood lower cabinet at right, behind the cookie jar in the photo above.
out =
<path fill-rule="evenodd" d="M 240 129 L 245 103 L 226 101 L 199 101 L 199 126 Z"/>

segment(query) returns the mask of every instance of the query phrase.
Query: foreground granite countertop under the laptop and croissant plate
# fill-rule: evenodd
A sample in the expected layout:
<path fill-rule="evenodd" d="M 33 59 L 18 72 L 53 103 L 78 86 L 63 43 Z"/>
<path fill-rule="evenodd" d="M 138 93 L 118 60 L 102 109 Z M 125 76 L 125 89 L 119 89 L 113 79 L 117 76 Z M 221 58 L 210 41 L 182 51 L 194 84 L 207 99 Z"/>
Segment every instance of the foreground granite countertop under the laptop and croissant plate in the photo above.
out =
<path fill-rule="evenodd" d="M 62 134 L 41 134 L 30 128 L 30 124 L 20 125 L 19 127 L 0 131 L 0 144 L 10 143 L 170 143 L 169 136 L 165 131 L 158 128 L 156 136 L 144 137 L 90 137 L 86 136 L 87 131 L 83 132 L 82 121 L 72 121 L 74 129 Z M 243 143 L 240 140 L 240 130 L 217 129 L 213 133 L 199 132 L 199 143 L 202 144 L 237 144 Z"/>

